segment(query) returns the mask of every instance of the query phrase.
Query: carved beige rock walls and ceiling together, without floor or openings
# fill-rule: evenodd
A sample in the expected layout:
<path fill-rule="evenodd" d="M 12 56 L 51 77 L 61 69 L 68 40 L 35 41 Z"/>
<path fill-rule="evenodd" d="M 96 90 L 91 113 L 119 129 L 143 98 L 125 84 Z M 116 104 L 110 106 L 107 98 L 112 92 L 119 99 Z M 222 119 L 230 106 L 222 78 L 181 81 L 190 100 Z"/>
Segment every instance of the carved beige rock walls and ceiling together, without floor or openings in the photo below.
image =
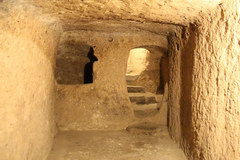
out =
<path fill-rule="evenodd" d="M 160 125 L 134 117 L 125 78 L 129 51 L 153 45 L 171 138 L 189 160 L 239 160 L 239 26 L 239 0 L 0 1 L 0 159 L 45 160 L 57 130 Z M 67 42 L 95 46 L 92 84 L 57 83 Z"/>

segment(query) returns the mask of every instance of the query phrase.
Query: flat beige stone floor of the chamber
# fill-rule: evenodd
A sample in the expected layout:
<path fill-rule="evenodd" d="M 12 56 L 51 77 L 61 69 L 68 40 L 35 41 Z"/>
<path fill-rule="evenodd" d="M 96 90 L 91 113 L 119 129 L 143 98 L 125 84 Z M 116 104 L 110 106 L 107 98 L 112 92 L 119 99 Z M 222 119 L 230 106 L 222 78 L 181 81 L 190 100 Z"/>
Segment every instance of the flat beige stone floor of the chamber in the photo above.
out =
<path fill-rule="evenodd" d="M 154 134 L 127 131 L 60 132 L 48 160 L 186 160 L 164 127 Z"/>

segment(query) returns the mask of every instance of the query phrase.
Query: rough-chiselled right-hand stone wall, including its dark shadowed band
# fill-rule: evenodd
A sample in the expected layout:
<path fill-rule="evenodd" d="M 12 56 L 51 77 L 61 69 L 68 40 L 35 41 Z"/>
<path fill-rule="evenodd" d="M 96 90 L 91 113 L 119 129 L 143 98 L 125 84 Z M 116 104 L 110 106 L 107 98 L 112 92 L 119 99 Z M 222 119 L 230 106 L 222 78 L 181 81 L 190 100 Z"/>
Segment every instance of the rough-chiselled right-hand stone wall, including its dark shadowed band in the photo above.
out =
<path fill-rule="evenodd" d="M 170 61 L 170 133 L 189 159 L 239 160 L 239 1 L 201 14 L 173 42 L 181 35 Z"/>

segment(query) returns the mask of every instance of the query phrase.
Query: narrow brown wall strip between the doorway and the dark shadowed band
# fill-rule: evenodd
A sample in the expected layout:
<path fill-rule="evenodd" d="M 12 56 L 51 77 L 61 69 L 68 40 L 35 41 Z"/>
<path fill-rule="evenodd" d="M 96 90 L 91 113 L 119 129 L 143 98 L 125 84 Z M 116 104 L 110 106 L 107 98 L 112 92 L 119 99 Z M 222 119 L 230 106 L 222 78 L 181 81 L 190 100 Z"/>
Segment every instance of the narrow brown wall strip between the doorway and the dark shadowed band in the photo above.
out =
<path fill-rule="evenodd" d="M 169 131 L 176 142 L 181 140 L 180 125 L 180 99 L 181 99 L 181 49 L 183 39 L 181 38 L 181 28 L 176 30 L 176 34 L 169 36 Z"/>

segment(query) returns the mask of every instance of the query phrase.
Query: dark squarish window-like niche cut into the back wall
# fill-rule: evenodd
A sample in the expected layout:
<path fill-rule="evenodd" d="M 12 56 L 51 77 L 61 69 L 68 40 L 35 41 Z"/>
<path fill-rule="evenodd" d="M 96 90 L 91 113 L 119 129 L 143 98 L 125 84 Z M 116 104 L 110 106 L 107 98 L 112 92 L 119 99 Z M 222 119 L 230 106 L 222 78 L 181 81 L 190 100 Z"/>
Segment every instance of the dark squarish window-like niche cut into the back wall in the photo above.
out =
<path fill-rule="evenodd" d="M 58 84 L 93 83 L 93 64 L 98 61 L 94 48 L 68 42 L 60 45 L 56 57 L 55 78 Z"/>

